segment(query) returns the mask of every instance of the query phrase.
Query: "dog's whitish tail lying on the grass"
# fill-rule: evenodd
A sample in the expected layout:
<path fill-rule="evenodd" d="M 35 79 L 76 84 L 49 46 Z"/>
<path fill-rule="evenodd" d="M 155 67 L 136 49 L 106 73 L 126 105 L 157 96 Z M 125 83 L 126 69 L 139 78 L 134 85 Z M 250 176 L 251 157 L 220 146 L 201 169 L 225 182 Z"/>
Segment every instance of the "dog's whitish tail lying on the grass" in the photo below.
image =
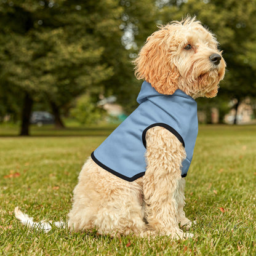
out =
<path fill-rule="evenodd" d="M 57 226 L 57 228 L 65 228 L 65 222 L 47 222 L 42 220 L 41 222 L 34 222 L 32 217 L 29 217 L 20 210 L 17 206 L 14 209 L 15 217 L 22 222 L 23 225 L 29 226 L 36 230 L 43 230 L 44 232 L 49 232 L 52 229 L 52 225 Z"/>

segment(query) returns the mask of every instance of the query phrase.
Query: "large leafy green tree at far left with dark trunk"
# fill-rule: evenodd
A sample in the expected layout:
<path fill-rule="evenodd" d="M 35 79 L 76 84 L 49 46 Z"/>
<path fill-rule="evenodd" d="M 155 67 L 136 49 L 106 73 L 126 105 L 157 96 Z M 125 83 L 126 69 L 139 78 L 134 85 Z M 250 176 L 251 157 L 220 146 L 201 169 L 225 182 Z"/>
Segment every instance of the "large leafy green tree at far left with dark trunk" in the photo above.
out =
<path fill-rule="evenodd" d="M 113 75 L 113 67 L 100 61 L 105 50 L 100 32 L 89 26 L 107 18 L 119 24 L 120 10 L 113 12 L 113 6 L 118 1 L 1 2 L 1 87 L 22 91 L 21 135 L 28 135 L 35 99 L 47 98 L 56 115 L 85 90 L 98 94 L 100 83 Z"/>

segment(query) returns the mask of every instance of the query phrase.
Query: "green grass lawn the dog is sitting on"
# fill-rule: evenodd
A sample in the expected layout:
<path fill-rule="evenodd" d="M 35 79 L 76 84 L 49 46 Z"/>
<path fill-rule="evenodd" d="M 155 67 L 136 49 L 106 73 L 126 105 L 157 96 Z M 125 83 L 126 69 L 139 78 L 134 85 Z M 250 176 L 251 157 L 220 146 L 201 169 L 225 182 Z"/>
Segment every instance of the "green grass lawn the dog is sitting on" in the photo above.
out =
<path fill-rule="evenodd" d="M 33 127 L 16 137 L 0 127 L 1 255 L 256 255 L 256 126 L 200 126 L 186 177 L 186 215 L 193 239 L 111 239 L 53 228 L 29 230 L 14 217 L 65 219 L 79 170 L 114 127 Z"/>

